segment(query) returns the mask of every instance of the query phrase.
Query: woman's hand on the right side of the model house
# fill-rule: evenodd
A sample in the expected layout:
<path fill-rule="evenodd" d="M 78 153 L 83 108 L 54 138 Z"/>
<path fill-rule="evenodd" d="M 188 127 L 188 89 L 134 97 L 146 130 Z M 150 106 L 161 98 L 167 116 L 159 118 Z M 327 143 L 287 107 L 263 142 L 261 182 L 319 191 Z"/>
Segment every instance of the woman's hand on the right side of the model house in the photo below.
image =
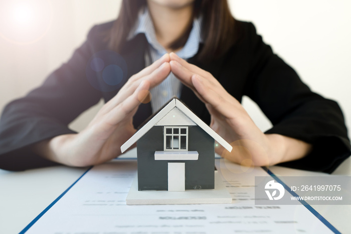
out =
<path fill-rule="evenodd" d="M 216 153 L 245 166 L 267 166 L 305 156 L 311 146 L 278 134 L 263 134 L 240 102 L 230 95 L 211 73 L 170 53 L 170 68 L 206 104 L 210 127 L 233 150 L 216 147 Z"/>

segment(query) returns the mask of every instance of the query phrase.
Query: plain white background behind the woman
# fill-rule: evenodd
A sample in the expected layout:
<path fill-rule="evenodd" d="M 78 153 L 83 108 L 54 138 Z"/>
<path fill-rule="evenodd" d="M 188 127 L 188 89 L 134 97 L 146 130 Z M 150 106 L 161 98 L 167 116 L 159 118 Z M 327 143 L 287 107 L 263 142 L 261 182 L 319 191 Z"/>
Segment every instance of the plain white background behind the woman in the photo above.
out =
<path fill-rule="evenodd" d="M 8 8 L 7 14 L 0 15 L 0 25 L 18 31 L 43 27 L 35 25 L 31 16 L 16 19 L 16 11 L 21 9 L 22 2 L 0 0 L 0 11 Z M 50 72 L 70 58 L 93 25 L 117 17 L 121 3 L 112 0 L 29 2 L 34 8 L 49 3 L 46 11 L 50 12 L 51 23 L 47 32 L 33 43 L 19 45 L 5 39 L 4 35 L 0 37 L 0 109 L 10 100 L 40 85 Z M 229 3 L 234 16 L 253 22 L 263 40 L 298 72 L 312 90 L 338 101 L 349 126 L 351 2 L 229 0 Z M 0 34 L 4 33 L 0 31 Z M 83 114 L 70 127 L 78 131 L 84 128 L 101 104 Z M 262 130 L 270 128 L 269 121 L 252 101 L 244 98 L 243 104 Z"/>

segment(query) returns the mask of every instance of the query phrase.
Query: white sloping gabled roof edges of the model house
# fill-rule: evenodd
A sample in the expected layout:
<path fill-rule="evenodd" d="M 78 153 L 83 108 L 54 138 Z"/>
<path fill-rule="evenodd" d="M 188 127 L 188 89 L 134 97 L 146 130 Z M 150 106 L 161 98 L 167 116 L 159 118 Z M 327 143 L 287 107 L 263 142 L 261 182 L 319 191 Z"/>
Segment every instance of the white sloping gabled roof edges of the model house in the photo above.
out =
<path fill-rule="evenodd" d="M 190 121 L 197 124 L 202 128 L 207 134 L 209 134 L 213 139 L 215 139 L 220 145 L 222 145 L 229 152 L 232 151 L 233 147 L 226 142 L 220 135 L 218 135 L 213 129 L 211 129 L 206 123 L 204 123 L 193 111 L 191 111 L 182 101 L 177 98 L 173 98 L 166 104 L 161 110 L 159 110 L 153 118 L 151 118 L 145 125 L 143 125 L 128 141 L 126 141 L 121 146 L 121 152 L 126 151 L 130 146 L 132 146 L 137 140 L 139 140 L 145 133 L 147 133 L 153 126 L 157 125 L 163 117 L 169 113 L 172 109 L 178 108 L 182 111 Z M 174 124 L 171 124 L 174 125 Z"/>

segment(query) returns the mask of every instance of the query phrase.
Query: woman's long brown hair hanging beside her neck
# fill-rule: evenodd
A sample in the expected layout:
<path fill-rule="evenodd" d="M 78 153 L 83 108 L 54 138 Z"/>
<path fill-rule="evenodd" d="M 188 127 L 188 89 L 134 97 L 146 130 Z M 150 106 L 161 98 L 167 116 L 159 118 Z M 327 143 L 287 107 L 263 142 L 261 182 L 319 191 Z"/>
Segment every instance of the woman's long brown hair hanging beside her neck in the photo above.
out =
<path fill-rule="evenodd" d="M 108 36 L 109 47 L 117 52 L 126 41 L 130 29 L 136 22 L 138 12 L 146 6 L 146 0 L 123 0 L 119 17 Z M 203 16 L 202 38 L 204 45 L 198 54 L 199 60 L 217 58 L 234 44 L 235 19 L 231 15 L 227 0 L 195 0 L 193 17 Z M 178 49 L 185 45 L 192 29 L 188 30 L 171 43 L 171 49 Z"/>

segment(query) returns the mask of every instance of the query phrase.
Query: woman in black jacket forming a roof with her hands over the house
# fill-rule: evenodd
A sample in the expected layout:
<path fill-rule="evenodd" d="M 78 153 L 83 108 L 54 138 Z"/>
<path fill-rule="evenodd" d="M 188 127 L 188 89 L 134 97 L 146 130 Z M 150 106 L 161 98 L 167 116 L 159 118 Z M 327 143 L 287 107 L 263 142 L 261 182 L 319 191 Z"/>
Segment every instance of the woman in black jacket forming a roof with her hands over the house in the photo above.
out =
<path fill-rule="evenodd" d="M 99 79 L 96 54 L 103 57 L 106 49 L 117 51 L 128 70 L 121 83 L 112 82 L 116 89 L 104 89 Z M 151 103 L 140 104 L 147 90 Z M 231 153 L 216 151 L 239 164 L 332 172 L 350 154 L 338 105 L 311 92 L 251 23 L 232 18 L 225 0 L 133 0 L 123 1 L 115 22 L 95 26 L 43 86 L 5 108 L 0 166 L 21 170 L 108 161 L 172 95 L 231 143 Z M 242 95 L 259 104 L 271 130 L 262 133 L 255 126 L 240 104 Z M 83 131 L 67 128 L 101 97 L 106 104 Z"/>

